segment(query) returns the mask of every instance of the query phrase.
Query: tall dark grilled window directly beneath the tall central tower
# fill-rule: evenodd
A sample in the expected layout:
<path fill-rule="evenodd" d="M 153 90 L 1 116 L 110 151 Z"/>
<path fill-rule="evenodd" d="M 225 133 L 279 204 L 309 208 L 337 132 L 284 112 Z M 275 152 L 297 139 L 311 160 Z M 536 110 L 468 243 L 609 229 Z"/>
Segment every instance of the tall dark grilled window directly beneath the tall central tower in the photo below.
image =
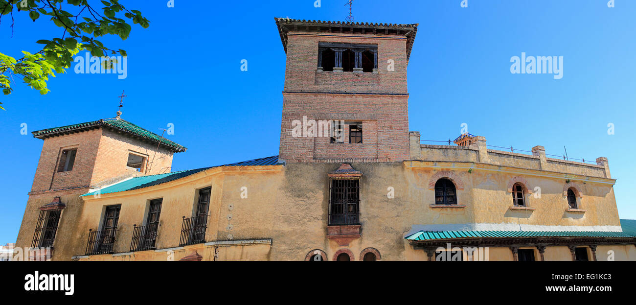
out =
<path fill-rule="evenodd" d="M 329 225 L 359 224 L 360 180 L 332 179 Z"/>

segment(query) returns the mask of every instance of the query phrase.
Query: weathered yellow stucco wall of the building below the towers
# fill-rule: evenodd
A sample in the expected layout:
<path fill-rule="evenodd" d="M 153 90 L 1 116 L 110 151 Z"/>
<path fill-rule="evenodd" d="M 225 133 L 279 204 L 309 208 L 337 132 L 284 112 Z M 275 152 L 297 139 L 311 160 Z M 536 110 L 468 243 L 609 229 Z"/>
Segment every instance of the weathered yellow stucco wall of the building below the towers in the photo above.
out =
<path fill-rule="evenodd" d="M 413 225 L 493 224 L 552 226 L 617 226 L 618 212 L 611 183 L 586 181 L 583 185 L 581 208 L 587 211 L 567 215 L 567 200 L 563 196 L 565 180 L 536 175 L 530 171 L 515 173 L 475 167 L 468 172 L 458 164 L 434 162 L 361 163 L 352 166 L 363 172 L 361 179 L 361 238 L 349 246 L 339 246 L 326 238 L 328 222 L 327 173 L 340 164 L 287 164 L 286 166 L 221 167 L 163 183 L 100 198 L 85 198 L 84 209 L 76 221 L 78 233 L 71 240 L 80 249 L 73 255 L 83 255 L 88 229 L 97 229 L 104 206 L 121 204 L 120 231 L 114 252 L 130 251 L 133 224 L 140 225 L 146 217 L 148 202 L 163 198 L 160 229 L 156 247 L 175 248 L 179 245 L 182 216 L 190 217 L 197 199 L 197 190 L 212 187 L 210 216 L 206 241 L 272 239 L 272 245 L 219 247 L 216 260 L 303 260 L 310 250 L 326 252 L 328 260 L 336 251 L 347 248 L 360 259 L 365 248 L 377 249 L 382 260 L 427 260 L 423 250 L 413 250 L 403 239 Z M 434 192 L 429 189 L 431 177 L 439 171 L 452 171 L 464 184 L 457 190 L 458 203 L 464 208 L 432 208 Z M 513 211 L 511 194 L 506 185 L 510 178 L 522 174 L 531 187 L 541 186 L 541 197 L 529 194 L 528 205 L 534 211 Z M 242 199 L 241 188 L 247 188 Z M 393 187 L 395 198 L 387 197 Z M 230 208 L 231 206 L 231 208 Z M 232 216 L 231 219 L 228 216 Z M 228 227 L 232 225 L 232 229 Z M 193 248 L 193 246 L 195 246 Z M 191 250 L 174 250 L 175 260 L 197 250 L 204 260 L 214 258 L 214 246 L 193 245 Z M 198 248 L 197 248 L 198 247 Z M 622 246 L 621 246 L 622 247 Z M 628 248 L 628 246 L 626 246 Z M 633 247 L 633 246 L 632 246 Z M 566 247 L 546 250 L 546 260 L 571 260 Z M 561 249 L 565 248 L 565 250 Z M 636 252 L 623 250 L 626 259 L 636 259 Z M 622 253 L 622 252 L 621 252 Z M 490 260 L 512 260 L 509 248 L 490 248 Z M 619 257 L 619 254 L 616 255 Z M 536 253 L 539 259 L 538 252 Z M 64 257 L 70 259 L 70 257 Z M 166 253 L 137 252 L 134 255 L 93 255 L 85 259 L 165 260 Z"/>

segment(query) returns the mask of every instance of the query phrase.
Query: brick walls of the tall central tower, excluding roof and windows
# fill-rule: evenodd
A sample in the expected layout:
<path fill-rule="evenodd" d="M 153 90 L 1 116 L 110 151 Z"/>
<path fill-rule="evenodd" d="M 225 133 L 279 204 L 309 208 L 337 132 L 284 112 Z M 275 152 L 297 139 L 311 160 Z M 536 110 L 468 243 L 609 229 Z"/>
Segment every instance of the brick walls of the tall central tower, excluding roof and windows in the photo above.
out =
<path fill-rule="evenodd" d="M 384 34 L 290 32 L 280 128 L 280 159 L 286 162 L 409 159 L 406 39 Z M 378 72 L 316 71 L 318 43 L 378 45 Z M 394 71 L 387 71 L 387 60 Z M 363 143 L 329 143 L 329 138 L 294 138 L 294 120 L 363 122 Z"/>

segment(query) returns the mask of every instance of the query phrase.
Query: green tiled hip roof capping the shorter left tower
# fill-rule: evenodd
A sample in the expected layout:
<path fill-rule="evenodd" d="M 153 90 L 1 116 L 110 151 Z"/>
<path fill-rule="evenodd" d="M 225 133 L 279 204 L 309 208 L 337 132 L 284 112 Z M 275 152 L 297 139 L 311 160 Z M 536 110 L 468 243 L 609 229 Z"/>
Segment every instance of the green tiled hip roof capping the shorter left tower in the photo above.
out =
<path fill-rule="evenodd" d="M 84 122 L 80 124 L 67 125 L 62 127 L 53 127 L 49 129 L 42 129 L 41 131 L 32 132 L 33 136 L 38 139 L 43 139 L 49 136 L 55 136 L 59 134 L 64 134 L 68 132 L 78 132 L 84 131 L 86 129 L 96 128 L 97 126 L 109 127 L 112 129 L 116 129 L 118 131 L 128 132 L 129 134 L 133 134 L 134 136 L 139 136 L 140 138 L 148 139 L 155 143 L 160 143 L 161 145 L 168 146 L 175 152 L 185 152 L 187 148 L 169 139 L 163 138 L 155 132 L 147 131 L 127 120 L 123 120 L 122 118 L 104 118 L 102 120 L 97 120 L 93 122 Z"/>

